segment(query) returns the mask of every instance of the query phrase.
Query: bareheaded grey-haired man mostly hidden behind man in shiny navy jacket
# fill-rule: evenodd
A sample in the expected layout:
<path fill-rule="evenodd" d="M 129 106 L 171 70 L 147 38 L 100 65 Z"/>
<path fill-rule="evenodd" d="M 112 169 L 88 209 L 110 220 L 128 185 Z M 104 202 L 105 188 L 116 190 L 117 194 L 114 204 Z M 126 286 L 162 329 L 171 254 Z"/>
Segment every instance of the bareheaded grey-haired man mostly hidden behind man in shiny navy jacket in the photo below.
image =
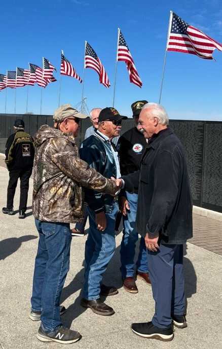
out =
<path fill-rule="evenodd" d="M 92 122 L 92 126 L 88 127 L 85 133 L 85 138 L 90 137 L 91 135 L 93 135 L 95 133 L 95 131 L 98 129 L 98 118 L 99 118 L 99 113 L 101 112 L 101 108 L 93 108 L 91 110 L 90 114 L 90 120 Z M 114 137 L 112 139 L 112 142 L 115 144 L 115 146 L 117 146 L 118 143 L 118 139 L 119 136 Z M 72 236 L 84 236 L 85 235 L 85 226 L 86 226 L 86 222 L 88 219 L 88 213 L 86 208 L 84 207 L 84 220 L 81 223 L 77 223 L 75 228 L 71 229 L 71 235 Z"/>

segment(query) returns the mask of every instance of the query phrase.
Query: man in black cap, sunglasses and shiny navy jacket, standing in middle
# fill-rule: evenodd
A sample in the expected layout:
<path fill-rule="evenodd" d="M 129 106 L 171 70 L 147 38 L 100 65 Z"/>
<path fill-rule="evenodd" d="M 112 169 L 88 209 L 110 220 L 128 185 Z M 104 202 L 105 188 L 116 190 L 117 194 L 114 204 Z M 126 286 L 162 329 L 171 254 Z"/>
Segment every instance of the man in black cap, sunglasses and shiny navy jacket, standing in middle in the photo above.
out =
<path fill-rule="evenodd" d="M 114 108 L 102 109 L 98 130 L 85 139 L 80 149 L 81 159 L 106 178 L 120 177 L 118 153 L 112 139 L 120 134 L 122 119 L 126 118 Z M 113 315 L 114 309 L 106 305 L 100 296 L 118 293 L 116 287 L 102 284 L 102 275 L 116 249 L 118 200 L 117 197 L 85 189 L 85 201 L 88 204 L 89 233 L 85 247 L 85 282 L 81 305 L 91 308 L 98 315 Z"/>

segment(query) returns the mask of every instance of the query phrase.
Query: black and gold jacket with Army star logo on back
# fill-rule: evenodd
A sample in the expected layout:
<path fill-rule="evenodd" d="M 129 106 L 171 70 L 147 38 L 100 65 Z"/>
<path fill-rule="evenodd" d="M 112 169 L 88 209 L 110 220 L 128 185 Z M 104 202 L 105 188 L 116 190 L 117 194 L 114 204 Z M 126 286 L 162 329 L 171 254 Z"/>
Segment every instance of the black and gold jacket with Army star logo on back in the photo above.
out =
<path fill-rule="evenodd" d="M 5 162 L 9 170 L 30 168 L 34 160 L 34 142 L 30 134 L 18 130 L 6 142 Z"/>

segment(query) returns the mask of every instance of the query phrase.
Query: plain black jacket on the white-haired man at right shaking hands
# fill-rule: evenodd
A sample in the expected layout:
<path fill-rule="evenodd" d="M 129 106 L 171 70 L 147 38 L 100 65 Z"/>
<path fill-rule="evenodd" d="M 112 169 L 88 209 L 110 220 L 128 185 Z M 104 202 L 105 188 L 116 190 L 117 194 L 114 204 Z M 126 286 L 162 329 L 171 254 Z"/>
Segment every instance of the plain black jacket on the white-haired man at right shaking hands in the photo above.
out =
<path fill-rule="evenodd" d="M 192 199 L 181 142 L 170 128 L 155 134 L 146 146 L 140 171 L 123 176 L 126 190 L 139 186 L 138 232 L 162 243 L 184 243 L 193 236 Z"/>

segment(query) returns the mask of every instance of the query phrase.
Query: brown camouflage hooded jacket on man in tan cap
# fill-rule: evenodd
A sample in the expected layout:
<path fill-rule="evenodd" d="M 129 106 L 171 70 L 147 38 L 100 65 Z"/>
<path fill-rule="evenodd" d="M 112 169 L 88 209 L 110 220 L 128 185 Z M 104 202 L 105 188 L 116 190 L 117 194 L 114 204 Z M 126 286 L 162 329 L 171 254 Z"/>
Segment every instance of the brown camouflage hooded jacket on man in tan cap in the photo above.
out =
<path fill-rule="evenodd" d="M 35 139 L 32 210 L 36 219 L 47 222 L 80 222 L 83 218 L 82 186 L 106 194 L 117 187 L 79 158 L 73 136 L 48 125 Z"/>

